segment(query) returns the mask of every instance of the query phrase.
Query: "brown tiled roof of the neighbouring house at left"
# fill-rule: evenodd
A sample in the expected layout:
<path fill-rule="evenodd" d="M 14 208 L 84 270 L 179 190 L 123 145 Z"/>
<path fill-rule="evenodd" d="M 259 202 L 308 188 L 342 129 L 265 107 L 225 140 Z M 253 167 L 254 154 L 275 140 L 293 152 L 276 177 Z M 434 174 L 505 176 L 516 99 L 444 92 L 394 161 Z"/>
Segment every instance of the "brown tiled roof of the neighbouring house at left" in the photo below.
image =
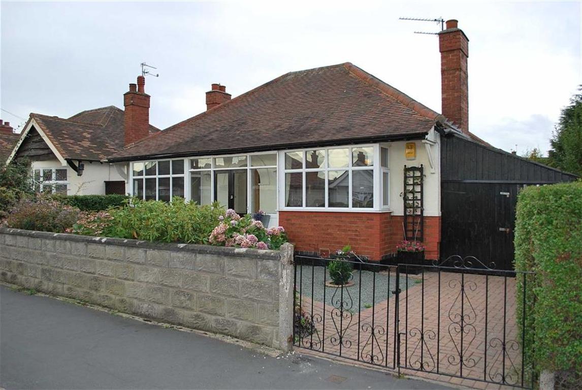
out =
<path fill-rule="evenodd" d="M 123 110 L 95 108 L 69 119 L 30 114 L 65 159 L 98 161 L 123 150 Z M 159 130 L 150 125 L 150 133 Z"/>

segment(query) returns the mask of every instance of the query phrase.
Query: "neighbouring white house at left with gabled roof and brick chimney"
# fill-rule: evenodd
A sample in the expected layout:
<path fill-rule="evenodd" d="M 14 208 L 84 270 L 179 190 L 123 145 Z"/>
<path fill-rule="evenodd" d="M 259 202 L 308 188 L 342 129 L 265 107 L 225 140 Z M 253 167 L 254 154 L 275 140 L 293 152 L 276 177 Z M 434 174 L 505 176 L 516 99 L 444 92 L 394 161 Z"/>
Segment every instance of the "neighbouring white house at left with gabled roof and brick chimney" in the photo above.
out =
<path fill-rule="evenodd" d="M 143 76 L 137 86 L 130 84 L 125 110 L 95 108 L 67 119 L 30 114 L 12 152 L 2 160 L 28 158 L 39 192 L 125 194 L 126 164 L 105 159 L 159 131 L 149 124 L 150 96 L 144 86 Z"/>

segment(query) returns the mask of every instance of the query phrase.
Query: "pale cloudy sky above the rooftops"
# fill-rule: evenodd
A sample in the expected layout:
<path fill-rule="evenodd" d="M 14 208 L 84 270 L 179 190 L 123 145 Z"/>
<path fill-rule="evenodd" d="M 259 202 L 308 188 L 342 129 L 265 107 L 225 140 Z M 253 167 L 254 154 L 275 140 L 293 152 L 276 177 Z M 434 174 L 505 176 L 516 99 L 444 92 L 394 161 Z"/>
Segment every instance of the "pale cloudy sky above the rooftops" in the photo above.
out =
<path fill-rule="evenodd" d="M 352 62 L 440 112 L 440 24 L 469 37 L 469 129 L 495 147 L 546 153 L 582 84 L 582 2 L 0 3 L 0 118 L 68 118 L 116 105 L 147 77 L 150 122 L 165 129 L 294 70 Z M 24 119 L 23 119 L 24 118 Z"/>

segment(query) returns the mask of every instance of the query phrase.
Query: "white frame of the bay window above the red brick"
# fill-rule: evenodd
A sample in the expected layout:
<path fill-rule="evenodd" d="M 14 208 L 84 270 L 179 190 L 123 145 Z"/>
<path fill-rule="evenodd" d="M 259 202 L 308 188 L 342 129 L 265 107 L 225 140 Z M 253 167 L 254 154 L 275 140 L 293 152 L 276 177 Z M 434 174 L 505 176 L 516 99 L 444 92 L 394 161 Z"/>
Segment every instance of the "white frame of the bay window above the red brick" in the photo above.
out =
<path fill-rule="evenodd" d="M 374 150 L 374 158 L 372 166 L 353 166 L 353 150 L 358 148 L 371 147 Z M 329 150 L 333 149 L 348 149 L 349 150 L 349 164 L 343 168 L 333 168 L 329 167 L 328 156 Z M 313 150 L 325 150 L 325 161 L 323 168 L 306 168 L 306 152 Z M 285 154 L 292 152 L 301 152 L 303 155 L 303 166 L 300 169 L 285 169 Z M 379 144 L 359 144 L 359 145 L 344 145 L 344 146 L 329 146 L 329 147 L 310 147 L 302 149 L 290 149 L 282 150 L 279 153 L 279 188 L 282 190 L 279 192 L 279 204 L 281 205 L 280 210 L 301 210 L 301 211 L 352 211 L 352 212 L 371 212 L 381 210 L 381 169 L 380 169 L 380 146 Z M 325 171 L 325 207 L 307 207 L 306 201 L 306 172 L 322 172 Z M 348 171 L 349 175 L 349 193 L 348 193 L 348 204 L 349 207 L 329 207 L 329 171 Z M 353 207 L 353 191 L 352 191 L 352 172 L 353 171 L 373 171 L 373 184 L 374 184 L 374 204 L 372 207 Z M 303 206 L 302 207 L 288 207 L 285 204 L 285 174 L 286 173 L 303 173 Z M 385 209 L 387 210 L 387 209 Z"/>

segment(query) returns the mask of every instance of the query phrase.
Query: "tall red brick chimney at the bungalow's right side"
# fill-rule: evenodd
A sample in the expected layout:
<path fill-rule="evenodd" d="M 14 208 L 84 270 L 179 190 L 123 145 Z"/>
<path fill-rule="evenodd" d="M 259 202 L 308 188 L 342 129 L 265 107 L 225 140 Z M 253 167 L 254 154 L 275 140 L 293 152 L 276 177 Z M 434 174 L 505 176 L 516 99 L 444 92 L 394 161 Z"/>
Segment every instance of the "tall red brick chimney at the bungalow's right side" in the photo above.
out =
<path fill-rule="evenodd" d="M 446 21 L 446 30 L 439 33 L 441 51 L 442 115 L 469 132 L 469 80 L 467 58 L 469 39 L 457 27 L 455 19 Z"/>

